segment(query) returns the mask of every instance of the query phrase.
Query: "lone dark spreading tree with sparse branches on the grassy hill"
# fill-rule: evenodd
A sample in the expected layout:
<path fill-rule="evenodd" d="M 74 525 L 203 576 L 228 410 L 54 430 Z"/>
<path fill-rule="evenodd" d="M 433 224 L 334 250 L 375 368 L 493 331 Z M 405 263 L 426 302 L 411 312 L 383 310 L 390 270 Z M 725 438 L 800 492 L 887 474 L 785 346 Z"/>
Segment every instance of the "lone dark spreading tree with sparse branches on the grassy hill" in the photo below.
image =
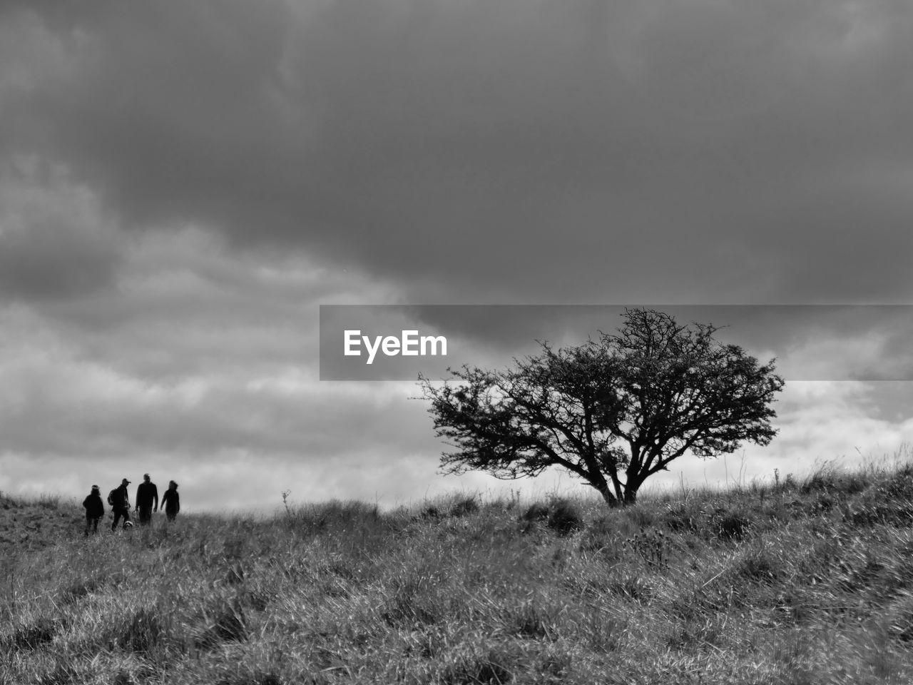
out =
<path fill-rule="evenodd" d="M 443 384 L 420 375 L 436 434 L 456 448 L 441 468 L 515 479 L 558 466 L 617 506 L 687 452 L 767 445 L 777 432 L 769 405 L 783 387 L 775 360 L 760 365 L 717 331 L 626 309 L 618 332 L 559 350 L 541 342 L 504 371 L 464 365 Z"/>

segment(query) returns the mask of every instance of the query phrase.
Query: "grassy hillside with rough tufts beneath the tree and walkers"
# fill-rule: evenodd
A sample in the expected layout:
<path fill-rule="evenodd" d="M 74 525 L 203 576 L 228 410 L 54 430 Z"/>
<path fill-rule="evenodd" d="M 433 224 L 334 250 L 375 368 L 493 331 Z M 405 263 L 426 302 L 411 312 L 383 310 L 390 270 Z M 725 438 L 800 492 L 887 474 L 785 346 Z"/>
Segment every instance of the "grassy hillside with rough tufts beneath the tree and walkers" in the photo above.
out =
<path fill-rule="evenodd" d="M 0 500 L 0 683 L 908 683 L 913 464 L 86 540 Z"/>

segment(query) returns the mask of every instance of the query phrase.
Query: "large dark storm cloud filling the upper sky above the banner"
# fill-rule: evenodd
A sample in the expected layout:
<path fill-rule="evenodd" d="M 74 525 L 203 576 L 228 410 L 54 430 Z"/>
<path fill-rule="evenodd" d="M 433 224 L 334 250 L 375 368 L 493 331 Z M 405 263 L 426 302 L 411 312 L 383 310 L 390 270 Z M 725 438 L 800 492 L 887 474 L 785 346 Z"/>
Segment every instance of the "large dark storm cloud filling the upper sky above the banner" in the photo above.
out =
<path fill-rule="evenodd" d="M 908 3 L 93 6 L 20 5 L 65 67 L 0 82 L 16 148 L 126 224 L 298 246 L 411 300 L 909 290 Z"/>

